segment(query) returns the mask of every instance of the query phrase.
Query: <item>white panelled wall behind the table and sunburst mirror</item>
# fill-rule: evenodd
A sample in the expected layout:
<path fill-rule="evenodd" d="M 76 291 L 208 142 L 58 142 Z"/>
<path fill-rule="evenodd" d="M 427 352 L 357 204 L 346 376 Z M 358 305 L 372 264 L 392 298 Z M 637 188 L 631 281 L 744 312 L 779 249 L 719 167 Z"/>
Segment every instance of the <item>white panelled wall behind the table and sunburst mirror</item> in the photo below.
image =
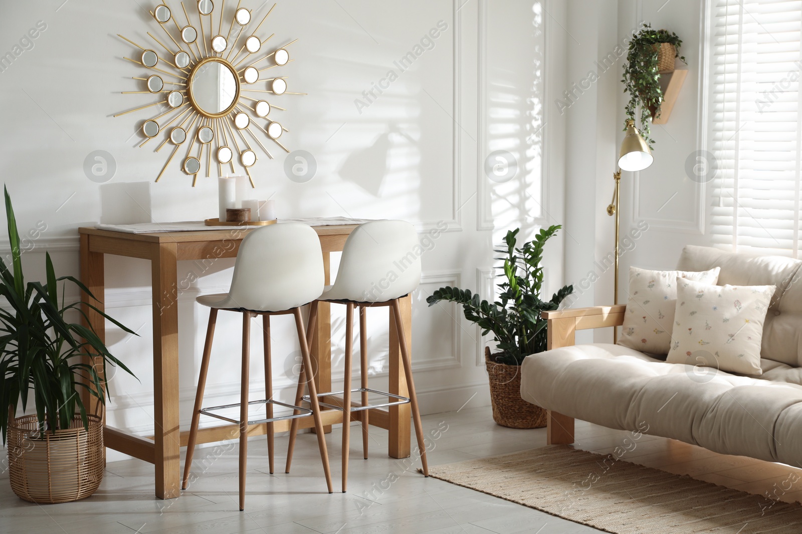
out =
<path fill-rule="evenodd" d="M 21 231 L 47 226 L 24 256 L 29 279 L 43 276 L 44 251 L 51 251 L 59 273 L 78 275 L 79 226 L 196 220 L 217 213 L 213 178 L 201 177 L 193 188 L 174 162 L 160 183 L 151 184 L 166 154 L 153 153 L 156 143 L 137 145 L 141 122 L 156 113 L 111 117 L 153 101 L 149 95 L 119 94 L 143 90 L 131 77 L 145 70 L 122 59 L 136 49 L 115 34 L 139 43 L 149 42 L 147 31 L 159 36 L 142 7 L 156 3 L 0 1 L 0 54 L 20 51 L 0 72 L 0 171 Z M 178 2 L 168 3 L 180 12 Z M 259 8 L 253 15 L 258 22 L 272 4 L 245 0 L 243 5 Z M 30 50 L 15 50 L 38 21 L 47 29 L 33 47 L 23 42 Z M 448 30 L 431 50 L 360 113 L 355 99 L 365 102 L 363 90 L 385 77 L 394 60 L 439 21 Z M 478 330 L 455 306 L 427 307 L 427 295 L 456 285 L 490 297 L 492 243 L 508 228 L 523 225 L 521 234 L 530 237 L 541 225 L 564 220 L 565 118 L 545 106 L 565 83 L 565 51 L 547 46 L 549 40 L 560 42 L 561 25 L 562 2 L 285 0 L 260 31 L 276 33 L 272 46 L 299 39 L 290 48 L 296 61 L 285 74 L 290 90 L 308 96 L 282 96 L 276 103 L 287 110 L 273 113 L 290 130 L 282 141 L 290 150 L 310 151 L 318 171 L 309 183 L 294 183 L 282 170 L 286 155 L 274 150 L 275 160 L 261 155 L 253 167 L 255 195 L 273 195 L 280 217 L 407 219 L 419 227 L 421 239 L 438 223 L 448 225 L 423 255 L 423 279 L 414 296 L 413 359 L 423 412 L 460 408 L 468 399 L 471 406 L 489 403 Z M 83 171 L 84 159 L 96 150 L 115 160 L 108 183 L 95 183 Z M 496 150 L 515 156 L 520 171 L 512 182 L 495 183 L 484 174 L 484 159 Z M 126 183 L 135 185 L 121 185 Z M 562 237 L 549 247 L 548 291 L 563 282 L 562 247 Z M 194 297 L 225 291 L 232 265 L 230 260 L 217 260 L 209 269 L 179 265 L 179 279 L 190 271 L 201 275 L 179 299 L 182 424 L 189 420 L 208 316 Z M 144 261 L 107 258 L 107 312 L 140 335 L 107 329 L 111 350 L 140 379 L 115 375 L 109 418 L 142 433 L 152 430 L 148 272 Z M 210 404 L 233 401 L 238 391 L 237 351 L 227 349 L 238 346 L 240 326 L 236 317 L 223 315 L 207 388 Z M 344 345 L 342 315 L 335 313 L 333 323 L 336 378 L 342 376 L 336 371 Z M 386 323 L 386 315 L 371 311 L 376 387 L 386 381 Z M 293 393 L 298 356 L 291 328 L 280 319 L 273 327 L 286 330 L 274 336 L 273 349 L 283 400 Z M 257 334 L 258 347 L 256 339 Z M 260 359 L 253 358 L 254 394 L 263 376 Z"/>

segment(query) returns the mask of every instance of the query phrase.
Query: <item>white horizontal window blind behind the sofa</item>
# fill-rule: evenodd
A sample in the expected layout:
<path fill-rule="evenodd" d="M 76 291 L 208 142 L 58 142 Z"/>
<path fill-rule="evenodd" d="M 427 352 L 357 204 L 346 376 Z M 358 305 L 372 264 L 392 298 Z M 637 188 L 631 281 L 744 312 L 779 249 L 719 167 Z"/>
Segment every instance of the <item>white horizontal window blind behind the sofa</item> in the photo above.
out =
<path fill-rule="evenodd" d="M 799 258 L 802 1 L 708 2 L 712 240 Z"/>

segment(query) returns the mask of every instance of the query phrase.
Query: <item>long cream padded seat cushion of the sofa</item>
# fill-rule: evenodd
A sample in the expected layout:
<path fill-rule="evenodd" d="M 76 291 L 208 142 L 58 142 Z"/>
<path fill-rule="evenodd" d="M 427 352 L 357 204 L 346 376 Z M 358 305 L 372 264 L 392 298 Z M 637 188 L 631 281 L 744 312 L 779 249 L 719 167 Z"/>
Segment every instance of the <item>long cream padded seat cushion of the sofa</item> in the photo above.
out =
<path fill-rule="evenodd" d="M 520 392 L 542 408 L 608 428 L 647 424 L 648 434 L 721 454 L 800 465 L 802 386 L 774 381 L 780 371 L 768 369 L 767 379 L 732 375 L 594 343 L 527 356 Z"/>

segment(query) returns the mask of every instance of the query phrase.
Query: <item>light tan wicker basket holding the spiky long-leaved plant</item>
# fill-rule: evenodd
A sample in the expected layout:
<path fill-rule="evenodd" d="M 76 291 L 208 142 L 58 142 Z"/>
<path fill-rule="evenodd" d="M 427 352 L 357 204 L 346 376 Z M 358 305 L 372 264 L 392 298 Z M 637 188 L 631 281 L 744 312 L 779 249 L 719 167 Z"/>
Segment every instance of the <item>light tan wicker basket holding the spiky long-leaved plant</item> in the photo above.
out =
<path fill-rule="evenodd" d="M 103 480 L 105 449 L 103 423 L 89 418 L 84 430 L 79 416 L 70 428 L 40 437 L 36 416 L 23 416 L 8 425 L 8 464 L 11 489 L 22 500 L 37 504 L 85 499 Z"/>

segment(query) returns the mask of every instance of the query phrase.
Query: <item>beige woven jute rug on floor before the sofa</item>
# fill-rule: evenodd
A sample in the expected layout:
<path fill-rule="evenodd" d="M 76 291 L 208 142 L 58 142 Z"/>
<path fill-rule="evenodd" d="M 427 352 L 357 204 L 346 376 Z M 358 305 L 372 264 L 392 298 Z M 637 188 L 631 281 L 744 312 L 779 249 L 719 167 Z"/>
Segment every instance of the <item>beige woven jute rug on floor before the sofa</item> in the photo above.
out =
<path fill-rule="evenodd" d="M 564 445 L 429 468 L 430 476 L 614 534 L 802 532 L 802 506 Z M 786 488 L 787 490 L 788 488 Z"/>

